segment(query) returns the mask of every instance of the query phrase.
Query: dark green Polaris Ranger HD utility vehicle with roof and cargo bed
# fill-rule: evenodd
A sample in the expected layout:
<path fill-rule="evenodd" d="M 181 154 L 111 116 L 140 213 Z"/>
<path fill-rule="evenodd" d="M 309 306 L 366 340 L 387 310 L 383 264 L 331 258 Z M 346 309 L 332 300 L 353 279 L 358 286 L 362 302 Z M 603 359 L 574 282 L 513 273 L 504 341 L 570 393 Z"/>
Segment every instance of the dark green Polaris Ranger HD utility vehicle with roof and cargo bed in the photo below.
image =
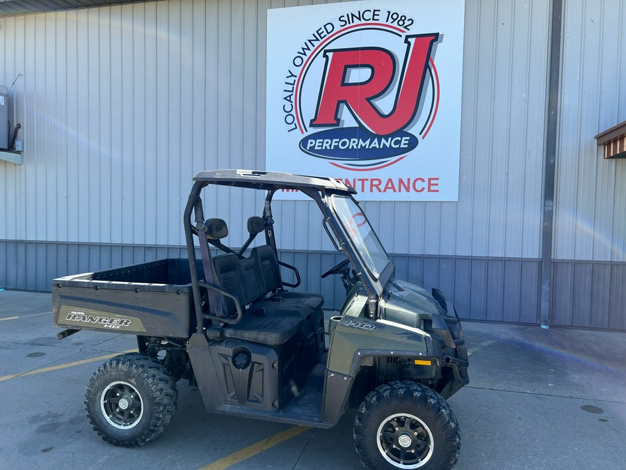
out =
<path fill-rule="evenodd" d="M 371 468 L 454 467 L 460 434 L 444 399 L 469 382 L 460 322 L 439 290 L 395 279 L 356 191 L 330 178 L 265 171 L 202 171 L 193 180 L 187 259 L 53 281 L 54 324 L 65 328 L 58 338 L 81 329 L 137 337 L 138 353 L 110 359 L 87 386 L 88 418 L 102 439 L 141 446 L 157 437 L 175 412 L 176 382 L 188 379 L 211 413 L 331 428 L 358 408 L 355 447 Z M 240 249 L 222 242 L 225 221 L 204 219 L 207 185 L 265 191 L 262 217 L 248 219 Z M 271 207 L 281 189 L 316 202 L 346 256 L 321 274 L 339 274 L 346 288 L 328 349 L 323 296 L 285 290 L 300 274 L 276 249 Z M 249 249 L 259 233 L 265 244 Z M 285 270 L 294 283 L 282 279 Z"/>

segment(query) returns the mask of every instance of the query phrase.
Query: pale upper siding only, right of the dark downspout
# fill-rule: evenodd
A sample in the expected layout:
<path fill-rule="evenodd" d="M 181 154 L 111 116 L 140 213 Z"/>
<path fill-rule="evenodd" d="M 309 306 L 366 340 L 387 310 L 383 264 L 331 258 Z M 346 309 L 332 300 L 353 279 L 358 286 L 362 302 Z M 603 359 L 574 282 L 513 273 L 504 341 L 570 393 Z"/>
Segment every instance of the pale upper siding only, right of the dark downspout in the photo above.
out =
<path fill-rule="evenodd" d="M 626 164 L 594 136 L 626 120 L 626 5 L 567 1 L 563 13 L 554 258 L 626 261 Z"/>

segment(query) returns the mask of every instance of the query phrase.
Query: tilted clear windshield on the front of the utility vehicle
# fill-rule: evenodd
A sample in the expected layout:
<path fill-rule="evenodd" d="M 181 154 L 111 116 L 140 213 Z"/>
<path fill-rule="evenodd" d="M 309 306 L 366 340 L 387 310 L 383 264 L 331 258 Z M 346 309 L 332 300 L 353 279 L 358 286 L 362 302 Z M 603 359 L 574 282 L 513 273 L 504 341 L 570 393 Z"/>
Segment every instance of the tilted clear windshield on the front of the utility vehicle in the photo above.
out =
<path fill-rule="evenodd" d="M 378 280 L 390 261 L 365 214 L 352 198 L 333 195 L 332 207 L 369 274 Z"/>

